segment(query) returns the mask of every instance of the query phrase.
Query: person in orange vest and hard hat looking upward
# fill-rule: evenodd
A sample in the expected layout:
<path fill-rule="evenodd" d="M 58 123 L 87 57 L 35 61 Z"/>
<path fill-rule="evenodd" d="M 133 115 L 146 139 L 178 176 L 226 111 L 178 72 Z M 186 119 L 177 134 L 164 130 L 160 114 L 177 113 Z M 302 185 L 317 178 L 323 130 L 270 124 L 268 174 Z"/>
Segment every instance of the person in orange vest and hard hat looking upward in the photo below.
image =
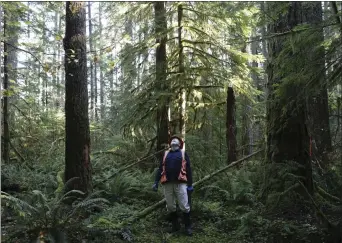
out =
<path fill-rule="evenodd" d="M 159 181 L 163 184 L 167 211 L 170 213 L 172 220 L 171 232 L 180 229 L 176 211 L 177 199 L 179 208 L 183 212 L 186 233 L 191 236 L 188 194 L 190 196 L 193 191 L 192 172 L 189 156 L 182 148 L 182 139 L 177 136 L 171 137 L 170 149 L 165 151 L 163 159 L 160 161 L 159 169 L 156 172 L 153 190 L 158 190 Z"/>

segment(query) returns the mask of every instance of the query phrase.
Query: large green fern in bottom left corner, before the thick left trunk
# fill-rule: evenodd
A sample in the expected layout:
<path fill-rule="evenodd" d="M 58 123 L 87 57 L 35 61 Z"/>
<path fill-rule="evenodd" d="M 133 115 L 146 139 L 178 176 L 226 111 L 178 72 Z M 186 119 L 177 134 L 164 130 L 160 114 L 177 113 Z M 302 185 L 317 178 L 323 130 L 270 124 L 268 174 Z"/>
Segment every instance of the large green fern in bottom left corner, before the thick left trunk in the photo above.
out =
<path fill-rule="evenodd" d="M 25 199 L 2 192 L 1 199 L 6 208 L 13 209 L 14 228 L 10 229 L 7 241 L 29 237 L 37 238 L 41 232 L 52 237 L 55 231 L 69 232 L 80 230 L 82 220 L 93 209 L 100 209 L 108 203 L 97 193 L 84 197 L 81 191 L 72 190 L 61 196 L 49 198 L 39 190 L 34 190 Z M 72 200 L 72 204 L 68 204 Z M 5 209 L 6 210 L 6 209 Z"/>

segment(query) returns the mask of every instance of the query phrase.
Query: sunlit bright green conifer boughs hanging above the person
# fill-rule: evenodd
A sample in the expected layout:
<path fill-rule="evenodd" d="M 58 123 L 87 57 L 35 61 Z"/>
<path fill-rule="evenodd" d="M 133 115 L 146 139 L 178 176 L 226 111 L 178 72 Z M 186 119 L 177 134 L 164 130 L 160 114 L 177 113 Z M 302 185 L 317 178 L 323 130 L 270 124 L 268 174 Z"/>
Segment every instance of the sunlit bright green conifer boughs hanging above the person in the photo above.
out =
<path fill-rule="evenodd" d="M 228 84 L 227 80 L 231 81 L 229 83 L 236 88 L 237 93 L 253 99 L 253 94 L 256 91 L 248 78 L 249 66 L 246 63 L 248 60 L 260 60 L 260 56 L 254 57 L 242 52 L 242 43 L 238 40 L 249 38 L 251 34 L 249 18 L 256 14 L 258 9 L 253 4 L 210 3 L 212 8 L 209 9 L 215 9 L 212 12 L 207 5 L 208 3 L 182 3 L 184 10 L 181 24 L 184 31 L 182 42 L 185 71 L 180 75 L 178 73 L 179 47 L 174 41 L 178 28 L 176 22 L 178 3 L 167 4 L 166 17 L 170 24 L 165 33 L 168 34 L 167 80 L 169 88 L 162 92 L 156 92 L 159 81 L 154 79 L 155 67 L 153 63 L 150 63 L 154 59 L 144 59 L 144 65 L 149 64 L 148 72 L 143 73 L 136 88 L 130 89 L 131 94 L 129 96 L 123 92 L 123 97 L 120 98 L 124 101 L 123 111 L 126 107 L 130 107 L 129 113 L 122 112 L 124 116 L 120 122 L 124 125 L 125 135 L 136 136 L 138 131 L 144 130 L 147 131 L 146 136 L 151 138 L 150 133 L 153 134 L 154 132 L 156 108 L 160 100 L 168 99 L 171 109 L 177 110 L 179 108 L 179 94 L 184 88 L 187 92 L 187 107 L 190 108 L 187 111 L 187 126 L 190 127 L 197 125 L 193 123 L 203 121 L 204 116 L 206 113 L 210 113 L 211 107 L 216 105 L 217 100 L 224 99 L 223 97 L 226 95 L 224 87 Z M 151 7 L 147 4 L 131 5 L 132 13 L 135 15 L 128 15 L 129 18 L 134 20 L 135 16 L 146 16 L 148 19 L 146 19 L 143 27 L 139 28 L 139 39 L 133 41 L 133 47 L 123 50 L 126 56 L 138 55 L 145 58 L 149 56 L 146 49 L 153 50 L 156 37 L 148 25 L 153 18 L 150 12 Z M 231 11 L 231 14 L 227 15 L 227 11 Z M 125 18 L 127 13 L 131 13 L 131 11 L 124 13 Z M 136 65 L 130 64 L 131 61 L 127 61 L 127 59 L 122 59 L 122 62 L 125 67 L 130 65 L 130 70 L 136 68 Z M 127 81 L 125 81 L 126 79 Z M 125 75 L 123 87 L 131 83 L 132 76 L 130 74 Z M 197 88 L 201 85 L 212 86 L 212 88 L 203 90 Z M 123 88 L 123 90 L 125 89 Z M 199 104 L 208 104 L 208 106 L 202 107 Z M 197 113 L 201 115 L 198 116 Z"/>

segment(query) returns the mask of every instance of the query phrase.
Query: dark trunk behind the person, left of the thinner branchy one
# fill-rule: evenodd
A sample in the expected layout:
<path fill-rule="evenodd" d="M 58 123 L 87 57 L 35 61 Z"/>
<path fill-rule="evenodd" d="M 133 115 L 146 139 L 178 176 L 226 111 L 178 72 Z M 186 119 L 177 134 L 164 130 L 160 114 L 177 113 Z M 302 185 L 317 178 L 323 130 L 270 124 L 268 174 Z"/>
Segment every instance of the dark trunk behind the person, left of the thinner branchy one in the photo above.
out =
<path fill-rule="evenodd" d="M 157 92 L 167 92 L 168 84 L 166 83 L 166 39 L 165 34 L 167 29 L 165 2 L 154 2 L 155 12 L 155 32 L 156 32 L 156 88 Z M 157 151 L 165 148 L 168 144 L 168 102 L 169 98 L 162 96 L 159 98 L 157 109 Z M 162 154 L 159 153 L 159 159 Z"/>

